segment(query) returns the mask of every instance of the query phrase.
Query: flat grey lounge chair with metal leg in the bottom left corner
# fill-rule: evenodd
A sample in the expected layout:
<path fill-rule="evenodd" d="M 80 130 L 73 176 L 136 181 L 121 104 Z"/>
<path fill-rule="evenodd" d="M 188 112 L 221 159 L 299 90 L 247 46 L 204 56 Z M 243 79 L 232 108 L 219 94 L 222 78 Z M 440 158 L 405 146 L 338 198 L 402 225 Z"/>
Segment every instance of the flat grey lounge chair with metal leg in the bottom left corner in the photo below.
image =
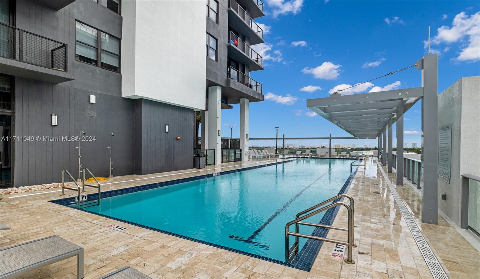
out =
<path fill-rule="evenodd" d="M 52 235 L 0 249 L 0 278 L 14 278 L 27 271 L 77 257 L 77 277 L 84 278 L 84 248 Z"/>

